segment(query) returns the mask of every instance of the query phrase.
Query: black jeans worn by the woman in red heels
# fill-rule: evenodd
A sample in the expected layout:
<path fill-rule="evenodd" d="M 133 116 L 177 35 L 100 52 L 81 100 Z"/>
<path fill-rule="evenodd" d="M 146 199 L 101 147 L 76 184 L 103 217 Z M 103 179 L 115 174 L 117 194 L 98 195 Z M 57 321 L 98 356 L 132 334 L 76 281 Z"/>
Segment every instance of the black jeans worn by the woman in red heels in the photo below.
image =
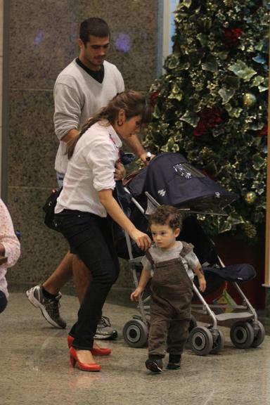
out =
<path fill-rule="evenodd" d="M 92 280 L 79 308 L 77 323 L 70 330 L 75 337 L 72 346 L 90 350 L 103 304 L 120 271 L 112 221 L 89 212 L 63 210 L 55 215 L 55 222 L 68 240 L 70 252 L 78 255 L 91 271 Z"/>

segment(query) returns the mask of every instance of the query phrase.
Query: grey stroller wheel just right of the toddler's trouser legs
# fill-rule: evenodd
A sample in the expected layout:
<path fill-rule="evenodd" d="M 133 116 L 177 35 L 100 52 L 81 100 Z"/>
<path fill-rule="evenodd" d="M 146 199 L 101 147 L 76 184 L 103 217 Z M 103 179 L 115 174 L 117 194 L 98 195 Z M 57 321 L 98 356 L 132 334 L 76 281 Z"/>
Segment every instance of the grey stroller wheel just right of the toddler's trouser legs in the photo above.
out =
<path fill-rule="evenodd" d="M 213 337 L 209 329 L 205 326 L 196 326 L 191 330 L 189 337 L 191 349 L 198 356 L 205 356 L 210 353 L 213 347 Z"/>

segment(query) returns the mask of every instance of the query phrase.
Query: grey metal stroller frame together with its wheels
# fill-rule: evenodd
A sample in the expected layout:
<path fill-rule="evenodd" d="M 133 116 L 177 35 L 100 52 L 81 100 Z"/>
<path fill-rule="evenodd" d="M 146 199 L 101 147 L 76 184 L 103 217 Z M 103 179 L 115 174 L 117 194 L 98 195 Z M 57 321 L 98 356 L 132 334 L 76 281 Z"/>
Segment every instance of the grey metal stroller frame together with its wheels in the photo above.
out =
<path fill-rule="evenodd" d="M 129 189 L 124 187 L 124 191 L 129 194 L 131 202 L 136 205 L 141 214 L 146 216 L 146 212 L 139 202 L 131 195 Z M 158 207 L 160 204 L 151 196 L 147 191 L 146 197 L 152 205 Z M 181 208 L 179 208 L 181 210 Z M 182 211 L 189 211 L 182 209 Z M 133 257 L 131 249 L 131 239 L 127 231 L 125 239 L 127 243 L 127 250 L 129 253 L 129 264 L 131 265 L 131 273 L 134 279 L 135 288 L 138 286 L 137 267 L 141 263 L 141 257 Z M 218 257 L 219 259 L 219 257 Z M 219 259 L 221 267 L 224 264 Z M 212 309 L 223 309 L 224 305 L 208 304 L 200 293 L 196 285 L 193 283 L 193 292 L 200 300 L 201 304 L 192 304 L 191 323 L 189 327 L 188 342 L 191 345 L 193 352 L 199 356 L 207 354 L 217 354 L 224 348 L 224 333 L 218 327 L 219 324 L 232 322 L 230 330 L 231 342 L 239 349 L 248 349 L 248 347 L 258 347 L 264 341 L 265 330 L 262 323 L 258 320 L 257 312 L 250 304 L 248 297 L 245 296 L 243 290 L 240 289 L 238 283 L 235 281 L 231 284 L 236 288 L 238 294 L 243 299 L 243 305 L 236 305 L 233 312 L 224 312 L 222 314 L 215 314 Z M 143 295 L 143 294 L 142 294 Z M 141 316 L 133 316 L 131 321 L 128 321 L 123 328 L 123 338 L 127 345 L 130 347 L 142 347 L 146 345 L 148 340 L 148 327 L 150 316 L 150 305 L 148 304 L 150 296 L 143 298 L 139 295 L 138 309 Z M 226 307 L 226 306 L 225 306 Z M 197 326 L 197 321 L 194 314 L 205 316 L 207 326 Z"/>

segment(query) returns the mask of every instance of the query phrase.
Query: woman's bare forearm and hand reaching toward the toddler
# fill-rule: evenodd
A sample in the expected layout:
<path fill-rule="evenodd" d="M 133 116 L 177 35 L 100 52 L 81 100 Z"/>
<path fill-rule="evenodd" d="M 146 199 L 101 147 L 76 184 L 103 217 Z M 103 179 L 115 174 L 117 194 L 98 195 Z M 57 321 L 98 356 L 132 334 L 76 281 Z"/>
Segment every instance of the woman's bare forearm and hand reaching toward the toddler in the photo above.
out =
<path fill-rule="evenodd" d="M 146 235 L 146 233 L 139 231 L 139 229 L 136 229 L 136 226 L 129 221 L 127 215 L 124 214 L 120 205 L 113 197 L 113 191 L 98 191 L 98 197 L 110 217 L 112 217 L 113 220 L 122 227 L 122 229 L 129 233 L 129 236 L 136 242 L 139 248 L 142 250 L 148 249 L 151 245 L 149 236 Z"/>

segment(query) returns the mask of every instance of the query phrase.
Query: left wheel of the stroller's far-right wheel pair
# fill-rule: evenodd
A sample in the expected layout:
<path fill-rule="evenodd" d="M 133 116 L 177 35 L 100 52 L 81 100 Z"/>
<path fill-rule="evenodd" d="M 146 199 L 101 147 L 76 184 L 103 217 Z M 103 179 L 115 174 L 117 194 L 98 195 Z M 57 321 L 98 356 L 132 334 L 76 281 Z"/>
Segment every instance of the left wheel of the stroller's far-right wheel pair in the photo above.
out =
<path fill-rule="evenodd" d="M 238 349 L 248 349 L 254 341 L 254 335 L 254 330 L 249 322 L 237 321 L 231 326 L 231 341 Z"/>

